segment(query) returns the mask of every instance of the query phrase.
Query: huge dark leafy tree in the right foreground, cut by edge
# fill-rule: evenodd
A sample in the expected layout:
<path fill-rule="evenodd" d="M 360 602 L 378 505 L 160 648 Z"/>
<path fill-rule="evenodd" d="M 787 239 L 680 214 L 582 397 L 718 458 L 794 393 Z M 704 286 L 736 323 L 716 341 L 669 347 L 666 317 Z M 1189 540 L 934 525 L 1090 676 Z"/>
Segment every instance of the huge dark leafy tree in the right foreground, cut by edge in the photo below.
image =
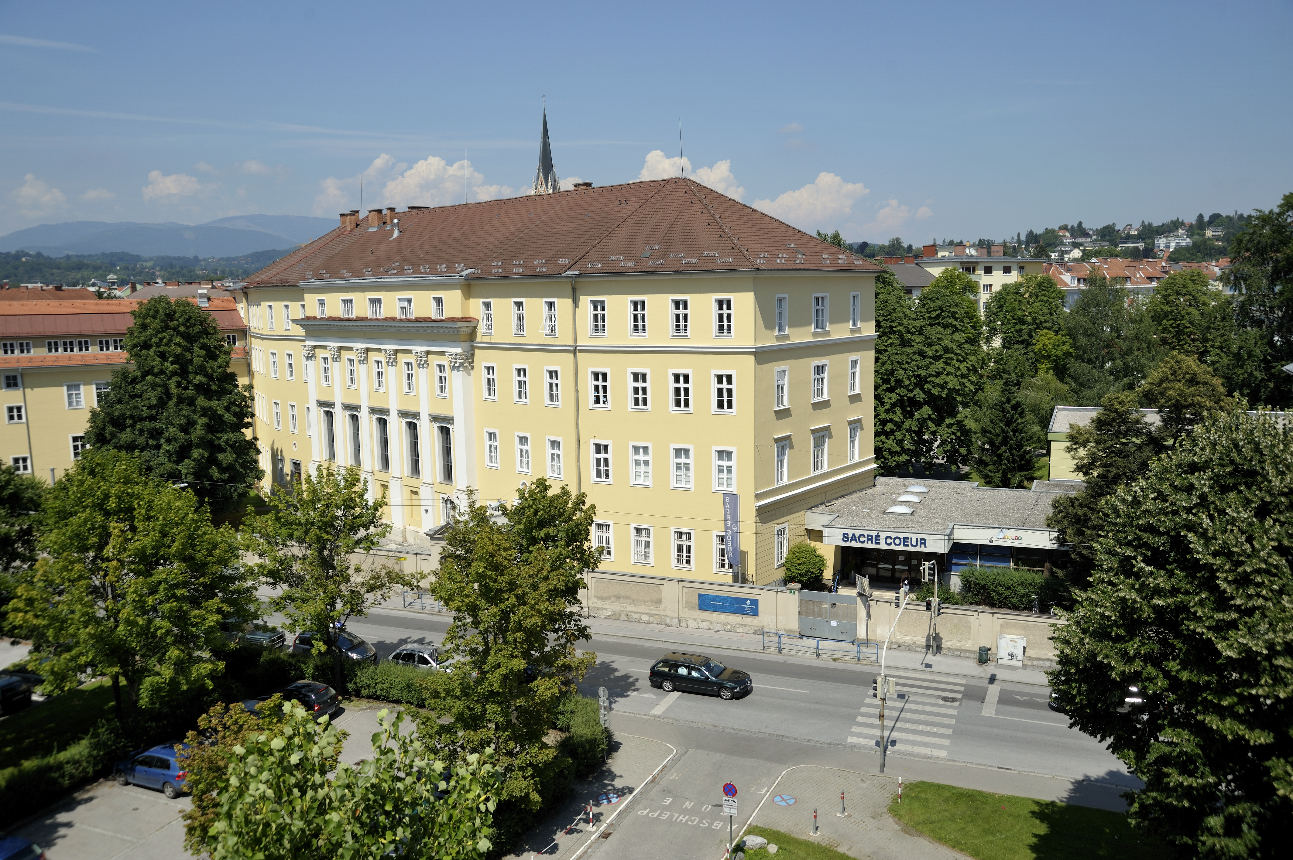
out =
<path fill-rule="evenodd" d="M 1146 786 L 1133 822 L 1191 857 L 1279 857 L 1293 821 L 1293 429 L 1209 416 L 1107 506 L 1056 630 L 1073 726 Z M 1143 701 L 1124 706 L 1129 687 Z"/>

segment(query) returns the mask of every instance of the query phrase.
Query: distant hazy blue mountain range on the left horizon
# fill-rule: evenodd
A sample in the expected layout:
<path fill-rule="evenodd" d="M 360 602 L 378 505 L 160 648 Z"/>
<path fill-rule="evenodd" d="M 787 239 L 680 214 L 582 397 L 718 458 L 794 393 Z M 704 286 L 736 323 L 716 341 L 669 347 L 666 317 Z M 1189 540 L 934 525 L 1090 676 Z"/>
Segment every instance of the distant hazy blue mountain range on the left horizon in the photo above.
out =
<path fill-rule="evenodd" d="M 65 221 L 0 235 L 0 251 L 40 251 L 49 256 L 125 251 L 141 256 L 235 257 L 304 244 L 335 226 L 332 219 L 308 215 L 234 215 L 206 224 Z"/>

